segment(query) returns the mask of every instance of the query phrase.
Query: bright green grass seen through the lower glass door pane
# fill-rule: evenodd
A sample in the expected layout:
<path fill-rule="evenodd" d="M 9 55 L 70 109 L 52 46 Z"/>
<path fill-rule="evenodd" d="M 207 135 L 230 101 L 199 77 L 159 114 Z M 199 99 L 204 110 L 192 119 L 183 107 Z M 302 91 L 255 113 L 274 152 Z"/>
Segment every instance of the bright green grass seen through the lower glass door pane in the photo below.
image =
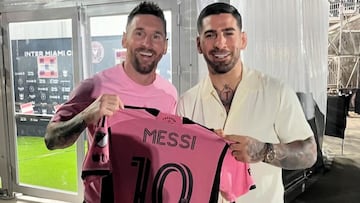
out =
<path fill-rule="evenodd" d="M 75 145 L 50 151 L 43 137 L 19 136 L 17 139 L 21 184 L 77 191 Z"/>

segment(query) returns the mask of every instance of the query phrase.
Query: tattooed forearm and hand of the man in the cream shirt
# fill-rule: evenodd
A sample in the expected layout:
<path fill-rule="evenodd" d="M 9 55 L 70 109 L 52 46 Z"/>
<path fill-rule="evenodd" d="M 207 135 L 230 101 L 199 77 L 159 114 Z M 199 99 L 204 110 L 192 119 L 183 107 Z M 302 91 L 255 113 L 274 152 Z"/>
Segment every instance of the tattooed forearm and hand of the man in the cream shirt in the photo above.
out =
<path fill-rule="evenodd" d="M 232 142 L 230 149 L 236 160 L 247 163 L 265 160 L 267 146 L 264 142 L 248 136 L 223 135 L 223 137 Z M 317 146 L 314 136 L 306 140 L 272 144 L 272 147 L 274 157 L 267 163 L 288 170 L 309 168 L 317 158 Z"/>

